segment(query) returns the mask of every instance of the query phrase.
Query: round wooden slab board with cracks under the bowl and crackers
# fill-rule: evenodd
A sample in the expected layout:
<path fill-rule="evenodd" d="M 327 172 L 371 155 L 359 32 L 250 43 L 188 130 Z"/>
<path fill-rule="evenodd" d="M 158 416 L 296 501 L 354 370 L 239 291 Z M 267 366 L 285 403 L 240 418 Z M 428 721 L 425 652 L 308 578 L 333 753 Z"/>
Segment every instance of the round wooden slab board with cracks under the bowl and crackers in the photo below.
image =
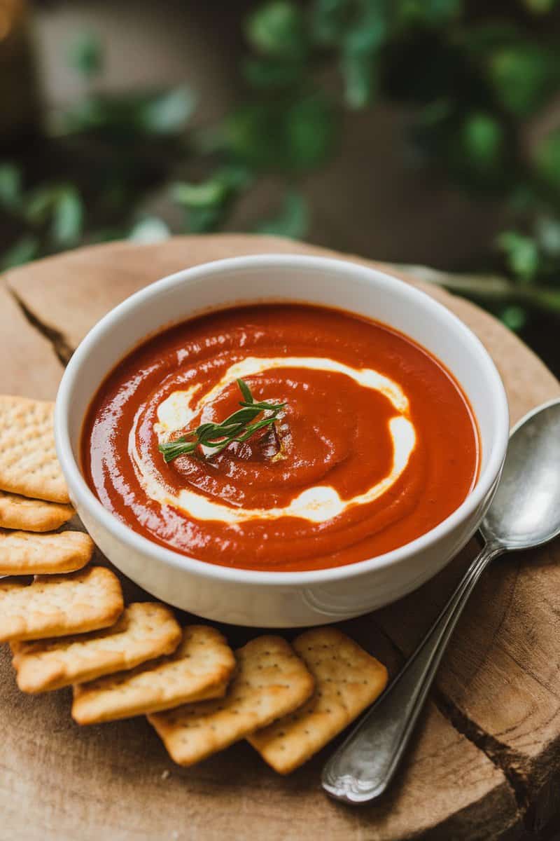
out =
<path fill-rule="evenodd" d="M 54 398 L 81 337 L 129 294 L 197 263 L 273 251 L 329 253 L 270 237 L 193 236 L 153 246 L 95 246 L 8 272 L 0 284 L 0 392 Z M 504 326 L 439 288 L 422 288 L 484 341 L 505 380 L 512 422 L 560 395 L 552 374 Z M 406 600 L 346 623 L 391 674 L 475 548 Z M 458 625 L 390 795 L 367 807 L 323 796 L 320 772 L 331 746 L 284 779 L 246 743 L 183 770 L 143 718 L 79 728 L 68 690 L 38 697 L 18 692 L 4 647 L 0 839 L 540 837 L 560 813 L 558 562 L 559 542 L 489 569 Z M 233 643 L 254 633 L 227 632 Z"/>

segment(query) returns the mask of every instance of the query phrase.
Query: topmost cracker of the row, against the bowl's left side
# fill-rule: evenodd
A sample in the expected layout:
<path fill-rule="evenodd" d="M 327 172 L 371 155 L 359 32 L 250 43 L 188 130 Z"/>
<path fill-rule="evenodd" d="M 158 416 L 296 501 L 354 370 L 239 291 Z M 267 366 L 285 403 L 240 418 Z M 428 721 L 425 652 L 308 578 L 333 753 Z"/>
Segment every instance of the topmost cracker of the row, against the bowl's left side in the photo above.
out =
<path fill-rule="evenodd" d="M 0 395 L 0 489 L 70 502 L 56 458 L 54 403 Z"/>

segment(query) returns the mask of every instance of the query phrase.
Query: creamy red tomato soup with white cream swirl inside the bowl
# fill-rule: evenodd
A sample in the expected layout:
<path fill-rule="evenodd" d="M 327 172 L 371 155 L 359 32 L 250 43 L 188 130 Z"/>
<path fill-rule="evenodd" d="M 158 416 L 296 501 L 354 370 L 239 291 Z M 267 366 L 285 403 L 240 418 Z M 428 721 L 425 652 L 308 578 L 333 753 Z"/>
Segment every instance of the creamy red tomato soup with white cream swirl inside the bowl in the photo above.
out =
<path fill-rule="evenodd" d="M 239 410 L 238 379 L 275 406 L 256 416 L 268 424 L 220 452 L 196 446 L 201 424 Z M 166 463 L 181 437 L 192 452 Z M 458 384 L 406 336 L 340 310 L 255 304 L 176 325 L 120 362 L 86 416 L 82 465 L 108 510 L 164 546 L 323 569 L 444 520 L 474 485 L 479 441 Z"/>

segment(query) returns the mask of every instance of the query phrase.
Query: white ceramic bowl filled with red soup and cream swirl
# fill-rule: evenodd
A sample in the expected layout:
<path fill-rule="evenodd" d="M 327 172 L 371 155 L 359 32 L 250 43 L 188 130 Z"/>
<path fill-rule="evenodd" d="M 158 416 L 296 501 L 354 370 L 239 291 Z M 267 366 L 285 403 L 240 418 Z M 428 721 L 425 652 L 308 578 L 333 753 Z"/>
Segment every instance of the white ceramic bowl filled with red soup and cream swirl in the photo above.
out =
<path fill-rule="evenodd" d="M 71 500 L 124 574 L 208 619 L 290 627 L 406 595 L 463 547 L 505 392 L 452 313 L 383 272 L 267 255 L 106 315 L 55 411 Z"/>

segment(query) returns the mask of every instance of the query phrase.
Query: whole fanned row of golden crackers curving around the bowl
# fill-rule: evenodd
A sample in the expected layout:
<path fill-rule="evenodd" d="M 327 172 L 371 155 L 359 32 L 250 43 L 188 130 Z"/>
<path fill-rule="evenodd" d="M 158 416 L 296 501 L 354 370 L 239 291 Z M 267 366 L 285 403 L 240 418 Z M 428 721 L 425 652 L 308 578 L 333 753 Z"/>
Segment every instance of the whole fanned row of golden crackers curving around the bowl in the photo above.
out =
<path fill-rule="evenodd" d="M 146 715 L 181 765 L 247 739 L 280 774 L 379 696 L 385 666 L 335 628 L 233 652 L 169 606 L 125 606 L 117 575 L 89 563 L 91 537 L 65 528 L 74 510 L 52 421 L 50 403 L 0 396 L 0 642 L 20 690 L 72 686 L 79 724 Z"/>

